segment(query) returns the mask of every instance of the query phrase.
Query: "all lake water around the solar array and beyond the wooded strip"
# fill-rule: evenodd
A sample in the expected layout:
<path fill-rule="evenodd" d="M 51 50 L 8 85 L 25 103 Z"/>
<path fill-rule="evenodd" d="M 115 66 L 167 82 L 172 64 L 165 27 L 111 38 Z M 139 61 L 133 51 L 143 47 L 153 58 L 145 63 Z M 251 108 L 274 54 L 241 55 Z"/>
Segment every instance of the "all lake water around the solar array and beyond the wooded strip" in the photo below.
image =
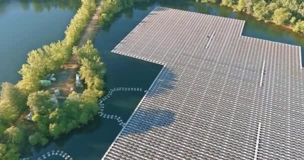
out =
<path fill-rule="evenodd" d="M 26 0 L 25 0 L 26 1 Z M 39 1 L 39 0 L 35 0 Z M 66 25 L 74 14 L 77 4 L 49 4 L 35 7 L 32 1 L 0 3 L 0 81 L 16 82 L 20 77 L 16 71 L 25 62 L 26 53 L 51 41 L 62 39 Z M 243 35 L 272 41 L 304 46 L 302 36 L 274 24 L 256 21 L 253 17 L 232 12 L 232 9 L 217 4 L 202 4 L 190 0 L 162 0 L 137 3 L 134 8 L 122 10 L 113 21 L 100 28 L 94 39 L 95 47 L 106 66 L 106 88 L 141 87 L 147 89 L 160 71 L 160 65 L 111 53 L 115 47 L 155 6 L 219 15 L 246 20 Z M 42 9 L 41 9 L 42 8 Z M 4 35 L 4 36 L 3 36 Z M 302 49 L 303 50 L 303 49 Z M 303 52 L 303 51 L 302 51 Z M 302 56 L 303 57 L 303 56 Z M 144 92 L 114 92 L 105 102 L 104 112 L 116 114 L 125 122 Z M 96 116 L 89 124 L 51 140 L 44 147 L 31 149 L 32 159 L 37 159 L 51 150 L 62 150 L 73 159 L 100 159 L 112 143 L 121 126 L 113 119 Z M 62 159 L 50 156 L 47 159 Z"/>

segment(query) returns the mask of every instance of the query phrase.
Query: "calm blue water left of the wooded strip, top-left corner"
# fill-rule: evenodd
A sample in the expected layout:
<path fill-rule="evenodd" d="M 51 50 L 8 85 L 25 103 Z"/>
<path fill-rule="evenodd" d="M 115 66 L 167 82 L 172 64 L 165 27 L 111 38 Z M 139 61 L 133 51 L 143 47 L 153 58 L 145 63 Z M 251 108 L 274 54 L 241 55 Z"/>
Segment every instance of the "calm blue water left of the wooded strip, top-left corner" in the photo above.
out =
<path fill-rule="evenodd" d="M 63 39 L 78 0 L 0 0 L 0 82 L 16 83 L 27 52 Z"/>

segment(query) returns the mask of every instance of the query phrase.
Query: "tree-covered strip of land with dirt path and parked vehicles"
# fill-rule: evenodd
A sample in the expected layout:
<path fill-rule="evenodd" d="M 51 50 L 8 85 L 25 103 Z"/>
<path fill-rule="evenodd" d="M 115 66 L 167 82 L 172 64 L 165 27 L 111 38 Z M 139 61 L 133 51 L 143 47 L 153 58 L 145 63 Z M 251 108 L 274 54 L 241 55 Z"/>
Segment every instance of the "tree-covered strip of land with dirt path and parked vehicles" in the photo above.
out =
<path fill-rule="evenodd" d="M 98 113 L 104 65 L 91 39 L 132 0 L 81 0 L 63 40 L 28 53 L 13 85 L 1 84 L 0 159 L 19 159 L 30 145 L 45 145 Z M 26 154 L 26 152 L 25 152 Z"/>

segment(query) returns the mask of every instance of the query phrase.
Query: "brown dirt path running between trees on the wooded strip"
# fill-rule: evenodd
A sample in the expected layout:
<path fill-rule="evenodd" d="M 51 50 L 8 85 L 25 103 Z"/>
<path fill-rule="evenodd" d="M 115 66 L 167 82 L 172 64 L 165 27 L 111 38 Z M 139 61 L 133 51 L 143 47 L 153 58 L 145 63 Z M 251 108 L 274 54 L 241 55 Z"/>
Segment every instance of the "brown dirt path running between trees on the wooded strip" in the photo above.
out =
<path fill-rule="evenodd" d="M 78 47 L 81 47 L 86 43 L 87 40 L 91 40 L 99 28 L 98 18 L 101 12 L 101 2 L 100 0 L 95 13 L 93 14 L 91 20 L 88 22 L 81 39 L 78 42 Z M 75 74 L 77 73 L 79 65 L 77 63 L 77 57 L 72 55 L 71 58 L 63 65 L 63 68 L 55 74 L 57 78 L 56 81 L 50 86 L 50 90 L 58 88 L 60 90 L 61 96 L 67 96 L 71 91 L 70 88 L 75 88 Z"/>

